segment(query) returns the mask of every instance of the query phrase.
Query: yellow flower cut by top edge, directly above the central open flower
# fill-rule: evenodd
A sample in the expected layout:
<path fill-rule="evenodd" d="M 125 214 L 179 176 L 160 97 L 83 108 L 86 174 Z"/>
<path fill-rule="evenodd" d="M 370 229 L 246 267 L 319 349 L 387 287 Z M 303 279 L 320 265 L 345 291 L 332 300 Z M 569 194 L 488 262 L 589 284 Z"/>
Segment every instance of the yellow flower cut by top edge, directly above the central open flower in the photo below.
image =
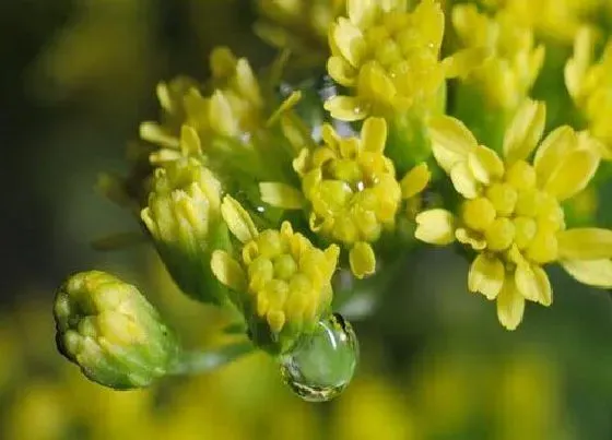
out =
<path fill-rule="evenodd" d="M 439 60 L 444 13 L 434 0 L 408 12 L 405 0 L 348 1 L 348 16 L 330 27 L 327 69 L 353 96 L 325 104 L 333 118 L 353 121 L 367 116 L 429 108 L 445 78 L 463 73 L 480 51 Z M 471 53 L 471 55 L 470 55 Z"/>

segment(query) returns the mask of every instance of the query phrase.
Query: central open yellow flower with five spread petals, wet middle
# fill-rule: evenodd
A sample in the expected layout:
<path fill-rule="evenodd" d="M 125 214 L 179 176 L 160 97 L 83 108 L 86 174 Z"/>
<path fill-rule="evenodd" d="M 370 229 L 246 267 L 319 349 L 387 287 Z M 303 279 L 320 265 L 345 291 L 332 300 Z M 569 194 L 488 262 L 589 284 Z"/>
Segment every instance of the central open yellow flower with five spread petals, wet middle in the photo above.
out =
<path fill-rule="evenodd" d="M 429 180 L 421 164 L 399 182 L 393 163 L 384 155 L 387 123 L 368 118 L 361 138 L 342 139 L 329 124 L 323 143 L 304 148 L 294 160 L 302 192 L 276 182 L 260 183 L 261 199 L 284 209 L 308 206 L 310 229 L 350 249 L 353 273 L 362 278 L 375 271 L 372 248 L 381 233 L 391 230 L 403 199 L 420 193 Z"/>

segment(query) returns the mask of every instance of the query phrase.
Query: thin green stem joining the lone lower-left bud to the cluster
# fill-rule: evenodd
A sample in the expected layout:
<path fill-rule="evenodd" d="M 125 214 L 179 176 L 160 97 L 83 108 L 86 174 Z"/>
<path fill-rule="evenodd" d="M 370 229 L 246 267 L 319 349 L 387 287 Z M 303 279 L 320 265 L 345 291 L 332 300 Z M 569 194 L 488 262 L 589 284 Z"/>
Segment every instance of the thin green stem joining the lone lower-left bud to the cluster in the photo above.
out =
<path fill-rule="evenodd" d="M 252 352 L 255 346 L 250 342 L 228 344 L 205 352 L 185 352 L 170 368 L 169 374 L 192 376 L 210 372 Z"/>

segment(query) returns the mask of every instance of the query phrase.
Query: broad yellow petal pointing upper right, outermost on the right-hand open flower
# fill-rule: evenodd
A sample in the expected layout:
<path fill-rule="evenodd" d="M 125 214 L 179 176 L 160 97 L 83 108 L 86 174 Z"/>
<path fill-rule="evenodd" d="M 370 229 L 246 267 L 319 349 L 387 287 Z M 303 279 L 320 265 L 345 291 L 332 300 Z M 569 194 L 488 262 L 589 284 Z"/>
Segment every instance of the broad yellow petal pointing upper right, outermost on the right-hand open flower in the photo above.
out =
<path fill-rule="evenodd" d="M 600 155 L 590 150 L 575 150 L 563 157 L 544 186 L 544 190 L 563 201 L 584 190 L 599 167 Z"/>

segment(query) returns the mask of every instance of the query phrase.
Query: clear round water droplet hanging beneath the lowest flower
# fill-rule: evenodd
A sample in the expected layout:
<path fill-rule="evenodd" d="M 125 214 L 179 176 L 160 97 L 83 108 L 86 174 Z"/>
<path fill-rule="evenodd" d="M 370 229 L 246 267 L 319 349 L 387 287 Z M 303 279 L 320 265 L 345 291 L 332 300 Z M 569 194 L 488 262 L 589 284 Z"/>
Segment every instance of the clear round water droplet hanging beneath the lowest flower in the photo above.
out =
<path fill-rule="evenodd" d="M 326 402 L 351 382 L 360 348 L 351 324 L 339 313 L 319 321 L 315 333 L 279 358 L 291 390 L 308 402 Z"/>

